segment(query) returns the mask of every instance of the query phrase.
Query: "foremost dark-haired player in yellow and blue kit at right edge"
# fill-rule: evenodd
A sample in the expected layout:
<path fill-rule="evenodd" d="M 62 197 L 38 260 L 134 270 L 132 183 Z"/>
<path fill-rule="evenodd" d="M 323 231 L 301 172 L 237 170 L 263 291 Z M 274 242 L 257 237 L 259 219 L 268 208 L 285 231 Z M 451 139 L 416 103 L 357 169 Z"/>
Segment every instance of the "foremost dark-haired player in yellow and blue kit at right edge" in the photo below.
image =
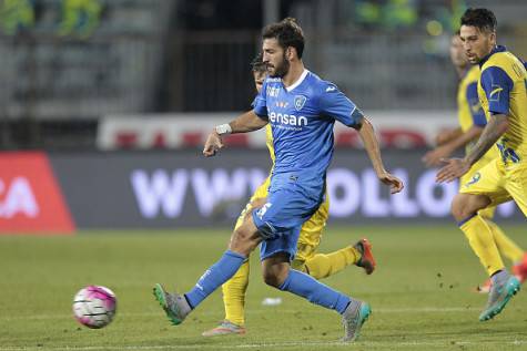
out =
<path fill-rule="evenodd" d="M 493 285 L 480 321 L 498 314 L 519 290 L 519 281 L 504 266 L 493 227 L 479 210 L 514 199 L 527 216 L 527 92 L 520 60 L 496 44 L 496 18 L 487 9 L 468 9 L 460 38 L 470 63 L 478 63 L 478 96 L 487 117 L 476 145 L 464 158 L 445 159 L 438 182 L 466 174 L 497 143 L 500 156 L 479 169 L 454 197 L 452 213 Z"/>

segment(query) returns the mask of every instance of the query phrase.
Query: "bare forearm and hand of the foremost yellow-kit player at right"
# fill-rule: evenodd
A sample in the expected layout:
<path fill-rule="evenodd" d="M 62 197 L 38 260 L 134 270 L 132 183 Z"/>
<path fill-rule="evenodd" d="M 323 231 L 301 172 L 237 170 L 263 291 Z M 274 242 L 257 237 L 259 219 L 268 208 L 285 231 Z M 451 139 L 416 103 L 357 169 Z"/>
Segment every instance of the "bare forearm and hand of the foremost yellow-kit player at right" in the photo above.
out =
<path fill-rule="evenodd" d="M 488 121 L 483 130 L 482 136 L 477 141 L 470 153 L 465 158 L 446 158 L 442 159 L 446 165 L 439 169 L 436 176 L 437 183 L 450 183 L 459 178 L 470 169 L 479 158 L 507 132 L 509 121 L 505 114 L 495 114 Z"/>

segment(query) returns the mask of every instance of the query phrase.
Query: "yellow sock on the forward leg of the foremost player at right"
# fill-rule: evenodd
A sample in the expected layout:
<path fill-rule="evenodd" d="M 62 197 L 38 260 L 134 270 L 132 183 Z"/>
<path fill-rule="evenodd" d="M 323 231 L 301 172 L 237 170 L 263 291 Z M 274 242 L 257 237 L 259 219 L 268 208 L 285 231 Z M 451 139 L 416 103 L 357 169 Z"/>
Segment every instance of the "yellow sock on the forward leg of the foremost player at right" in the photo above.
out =
<path fill-rule="evenodd" d="M 482 216 L 472 217 L 459 228 L 465 233 L 468 244 L 476 256 L 479 257 L 479 261 L 489 276 L 504 269 L 505 266 L 494 241 L 493 230 Z"/>

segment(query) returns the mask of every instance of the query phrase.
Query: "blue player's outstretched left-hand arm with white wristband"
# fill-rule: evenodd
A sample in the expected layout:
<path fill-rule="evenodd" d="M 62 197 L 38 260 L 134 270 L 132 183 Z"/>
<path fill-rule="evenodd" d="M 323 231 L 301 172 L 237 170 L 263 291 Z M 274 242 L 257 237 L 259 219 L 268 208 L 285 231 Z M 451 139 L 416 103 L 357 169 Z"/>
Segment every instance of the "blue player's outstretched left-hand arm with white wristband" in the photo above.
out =
<path fill-rule="evenodd" d="M 222 124 L 214 127 L 206 138 L 203 155 L 205 155 L 205 157 L 214 156 L 223 148 L 222 135 L 253 132 L 262 128 L 266 124 L 267 121 L 259 117 L 253 110 L 245 112 L 229 124 Z"/>

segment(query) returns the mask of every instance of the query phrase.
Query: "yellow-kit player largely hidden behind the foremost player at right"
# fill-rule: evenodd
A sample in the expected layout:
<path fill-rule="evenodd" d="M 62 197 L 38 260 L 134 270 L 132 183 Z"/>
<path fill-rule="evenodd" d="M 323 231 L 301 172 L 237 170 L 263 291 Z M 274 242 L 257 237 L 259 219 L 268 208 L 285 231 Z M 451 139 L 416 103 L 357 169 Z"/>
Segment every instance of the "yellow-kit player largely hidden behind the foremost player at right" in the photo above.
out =
<path fill-rule="evenodd" d="M 437 135 L 436 141 L 438 146 L 423 157 L 423 161 L 428 167 L 440 165 L 442 158 L 449 157 L 457 148 L 463 146 L 465 146 L 465 154 L 468 155 L 487 124 L 485 112 L 482 109 L 477 95 L 479 66 L 468 62 L 467 55 L 463 50 L 459 33 L 452 37 L 450 60 L 460 79 L 457 89 L 457 116 L 459 127 L 453 131 L 444 131 Z M 479 168 L 498 156 L 498 148 L 490 147 L 487 153 L 470 167 L 470 171 L 460 177 L 459 184 L 462 186 L 467 184 Z M 513 261 L 513 273 L 523 282 L 527 278 L 527 255 L 491 220 L 495 211 L 496 206 L 489 206 L 479 210 L 479 215 L 493 229 L 493 238 L 499 252 Z M 489 292 L 490 285 L 491 280 L 487 279 L 482 286 L 477 287 L 477 291 Z"/>

